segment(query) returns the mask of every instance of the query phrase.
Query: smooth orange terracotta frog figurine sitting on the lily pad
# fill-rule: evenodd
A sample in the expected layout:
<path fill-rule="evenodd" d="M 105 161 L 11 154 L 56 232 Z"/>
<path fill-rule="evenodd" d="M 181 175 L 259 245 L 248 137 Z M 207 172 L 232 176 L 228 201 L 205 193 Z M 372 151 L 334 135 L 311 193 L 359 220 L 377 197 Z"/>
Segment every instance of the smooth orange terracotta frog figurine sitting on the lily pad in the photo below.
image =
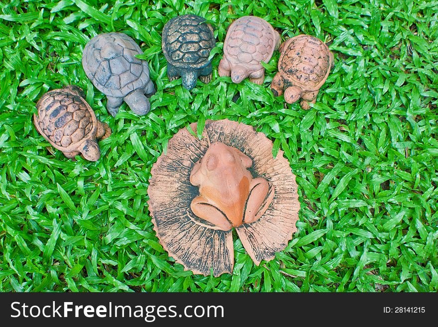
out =
<path fill-rule="evenodd" d="M 192 200 L 193 213 L 221 230 L 260 218 L 272 197 L 268 182 L 252 177 L 247 169 L 251 166 L 251 158 L 238 149 L 212 143 L 190 174 L 200 193 Z"/>

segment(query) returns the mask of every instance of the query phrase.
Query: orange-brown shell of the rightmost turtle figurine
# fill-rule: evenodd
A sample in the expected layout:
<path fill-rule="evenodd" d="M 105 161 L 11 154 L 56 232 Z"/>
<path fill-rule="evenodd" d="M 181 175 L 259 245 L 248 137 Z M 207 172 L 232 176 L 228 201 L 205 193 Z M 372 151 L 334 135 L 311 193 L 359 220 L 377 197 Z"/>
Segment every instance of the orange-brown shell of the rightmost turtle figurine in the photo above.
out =
<path fill-rule="evenodd" d="M 278 71 L 290 84 L 316 91 L 330 72 L 330 50 L 320 39 L 298 35 L 286 41 L 278 59 Z"/>

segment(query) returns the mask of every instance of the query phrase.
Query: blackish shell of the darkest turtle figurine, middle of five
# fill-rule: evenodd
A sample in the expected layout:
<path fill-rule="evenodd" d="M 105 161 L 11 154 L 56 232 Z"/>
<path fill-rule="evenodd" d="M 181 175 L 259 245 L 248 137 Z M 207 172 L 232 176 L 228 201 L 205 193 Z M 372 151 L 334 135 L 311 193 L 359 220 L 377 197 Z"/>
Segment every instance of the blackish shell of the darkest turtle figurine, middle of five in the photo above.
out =
<path fill-rule="evenodd" d="M 210 52 L 215 46 L 213 27 L 203 17 L 192 14 L 177 16 L 164 25 L 163 53 L 175 67 L 206 66 L 210 63 Z"/>

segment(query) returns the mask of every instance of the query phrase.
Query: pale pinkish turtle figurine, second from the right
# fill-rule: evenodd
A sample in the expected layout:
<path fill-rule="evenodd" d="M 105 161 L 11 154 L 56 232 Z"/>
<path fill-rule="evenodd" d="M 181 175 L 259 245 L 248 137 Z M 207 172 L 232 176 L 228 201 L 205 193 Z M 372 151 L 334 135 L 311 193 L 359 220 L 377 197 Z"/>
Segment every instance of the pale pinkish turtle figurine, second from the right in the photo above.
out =
<path fill-rule="evenodd" d="M 243 16 L 229 27 L 223 42 L 223 58 L 219 62 L 219 76 L 231 76 L 233 83 L 249 81 L 261 85 L 267 63 L 280 45 L 280 34 L 266 20 Z"/>

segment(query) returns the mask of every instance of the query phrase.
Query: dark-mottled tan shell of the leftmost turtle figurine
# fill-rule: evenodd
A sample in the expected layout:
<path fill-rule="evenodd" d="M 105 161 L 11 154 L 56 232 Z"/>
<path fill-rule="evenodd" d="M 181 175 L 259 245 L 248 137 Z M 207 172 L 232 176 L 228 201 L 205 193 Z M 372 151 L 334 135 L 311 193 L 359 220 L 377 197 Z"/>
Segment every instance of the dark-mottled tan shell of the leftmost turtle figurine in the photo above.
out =
<path fill-rule="evenodd" d="M 58 150 L 71 152 L 98 128 L 90 105 L 72 89 L 52 90 L 36 104 L 34 123 L 38 132 Z"/>

